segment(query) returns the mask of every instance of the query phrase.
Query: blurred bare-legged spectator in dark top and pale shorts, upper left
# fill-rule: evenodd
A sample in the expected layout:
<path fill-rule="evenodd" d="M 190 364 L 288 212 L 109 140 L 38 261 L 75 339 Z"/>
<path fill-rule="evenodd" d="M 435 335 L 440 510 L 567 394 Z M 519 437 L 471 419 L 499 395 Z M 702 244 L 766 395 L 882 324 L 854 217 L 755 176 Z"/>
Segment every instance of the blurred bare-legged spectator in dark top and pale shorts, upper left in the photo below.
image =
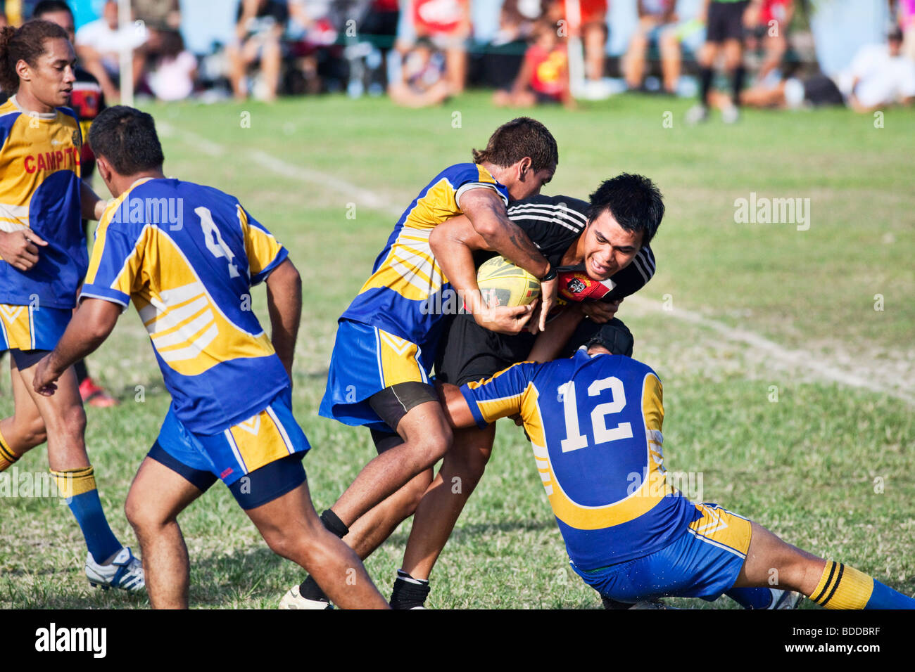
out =
<path fill-rule="evenodd" d="M 238 8 L 236 41 L 226 47 L 229 57 L 229 79 L 236 100 L 248 97 L 248 66 L 260 61 L 264 78 L 263 91 L 255 97 L 266 102 L 276 100 L 283 50 L 280 39 L 289 20 L 289 7 L 279 0 L 242 0 Z"/>

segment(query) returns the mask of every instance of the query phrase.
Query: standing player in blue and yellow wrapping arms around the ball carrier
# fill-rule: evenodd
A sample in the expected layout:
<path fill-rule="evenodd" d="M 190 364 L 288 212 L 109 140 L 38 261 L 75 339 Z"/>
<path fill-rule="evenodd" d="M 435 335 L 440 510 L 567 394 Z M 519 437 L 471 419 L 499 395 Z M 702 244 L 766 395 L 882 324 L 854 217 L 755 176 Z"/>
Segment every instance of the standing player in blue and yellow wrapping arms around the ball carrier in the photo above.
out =
<path fill-rule="evenodd" d="M 359 525 L 352 539 L 359 539 L 354 548 L 362 558 L 413 513 L 431 482 L 427 470 L 451 443 L 429 377 L 447 317 L 435 306 L 447 304 L 442 297 L 453 290 L 429 247 L 431 232 L 466 215 L 492 250 L 542 279 L 540 328 L 554 304 L 556 271 L 506 213 L 511 199 L 538 194 L 552 179 L 559 160 L 553 135 L 533 119 L 515 119 L 473 158 L 472 164 L 443 170 L 414 198 L 371 277 L 339 318 L 320 414 L 368 427 L 379 455 L 321 519 L 340 537 Z M 533 315 L 533 305 L 490 308 L 479 289 L 462 298 L 479 323 L 494 331 L 517 333 Z M 307 600 L 322 598 L 313 584 L 310 590 L 303 586 Z M 296 600 L 298 590 L 287 597 Z"/>

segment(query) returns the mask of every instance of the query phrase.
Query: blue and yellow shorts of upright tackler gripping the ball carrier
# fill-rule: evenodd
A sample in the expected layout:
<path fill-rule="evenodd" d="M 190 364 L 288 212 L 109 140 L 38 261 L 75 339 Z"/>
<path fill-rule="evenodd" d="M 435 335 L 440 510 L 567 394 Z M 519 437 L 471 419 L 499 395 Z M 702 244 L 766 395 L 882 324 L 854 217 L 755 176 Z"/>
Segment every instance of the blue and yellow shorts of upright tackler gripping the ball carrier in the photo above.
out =
<path fill-rule="evenodd" d="M 369 398 L 404 382 L 429 384 L 433 359 L 415 343 L 377 326 L 340 320 L 319 415 L 352 426 L 391 432 Z"/>

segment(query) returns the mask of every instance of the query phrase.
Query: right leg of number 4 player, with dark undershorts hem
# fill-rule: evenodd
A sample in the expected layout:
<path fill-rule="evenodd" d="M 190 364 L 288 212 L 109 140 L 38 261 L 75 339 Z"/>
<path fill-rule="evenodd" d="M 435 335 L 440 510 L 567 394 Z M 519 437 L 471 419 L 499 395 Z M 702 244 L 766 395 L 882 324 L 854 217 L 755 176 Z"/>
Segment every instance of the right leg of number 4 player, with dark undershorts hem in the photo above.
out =
<path fill-rule="evenodd" d="M 264 504 L 248 507 L 250 501 L 239 488 L 231 488 L 274 553 L 303 567 L 344 609 L 388 608 L 359 556 L 321 524 L 311 504 L 301 455 L 266 464 L 249 477 L 250 492 L 285 491 Z M 287 489 L 296 480 L 299 485 Z"/>

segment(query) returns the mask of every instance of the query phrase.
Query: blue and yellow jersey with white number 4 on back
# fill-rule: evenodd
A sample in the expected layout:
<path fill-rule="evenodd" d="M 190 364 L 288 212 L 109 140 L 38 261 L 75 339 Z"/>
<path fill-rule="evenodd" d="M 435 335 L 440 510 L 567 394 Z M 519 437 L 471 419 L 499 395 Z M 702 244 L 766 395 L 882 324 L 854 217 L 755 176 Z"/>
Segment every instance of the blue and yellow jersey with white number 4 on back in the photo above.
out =
<path fill-rule="evenodd" d="M 137 181 L 105 210 L 81 298 L 131 298 L 178 420 L 221 432 L 289 385 L 251 286 L 288 253 L 238 200 L 176 179 Z"/>

